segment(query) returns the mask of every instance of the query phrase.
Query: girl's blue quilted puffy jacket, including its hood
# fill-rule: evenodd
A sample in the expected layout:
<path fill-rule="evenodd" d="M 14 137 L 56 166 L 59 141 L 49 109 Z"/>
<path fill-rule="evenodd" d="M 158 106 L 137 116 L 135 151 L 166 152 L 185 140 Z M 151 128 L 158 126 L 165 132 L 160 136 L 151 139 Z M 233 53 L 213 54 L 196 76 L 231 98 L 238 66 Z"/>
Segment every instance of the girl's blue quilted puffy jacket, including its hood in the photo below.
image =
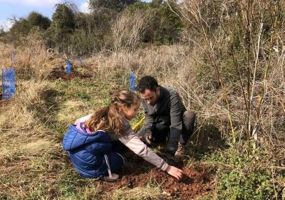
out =
<path fill-rule="evenodd" d="M 72 124 L 64 136 L 63 146 L 77 172 L 87 178 L 108 175 L 108 165 L 115 173 L 124 164 L 123 157 L 111 151 L 112 142 L 105 131 L 89 134 Z"/>

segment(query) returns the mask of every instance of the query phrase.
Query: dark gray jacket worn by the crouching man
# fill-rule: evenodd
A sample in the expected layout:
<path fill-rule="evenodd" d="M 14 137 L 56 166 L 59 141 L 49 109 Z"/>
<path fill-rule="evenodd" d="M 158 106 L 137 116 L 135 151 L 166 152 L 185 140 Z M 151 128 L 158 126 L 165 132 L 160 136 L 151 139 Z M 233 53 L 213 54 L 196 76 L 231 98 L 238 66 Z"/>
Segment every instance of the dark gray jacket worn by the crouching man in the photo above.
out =
<path fill-rule="evenodd" d="M 182 133 L 183 112 L 186 111 L 177 91 L 160 86 L 160 97 L 154 106 L 142 100 L 143 111 L 146 116 L 145 129 L 152 129 L 152 125 L 163 124 L 170 126 L 170 136 L 167 151 L 175 153 Z"/>

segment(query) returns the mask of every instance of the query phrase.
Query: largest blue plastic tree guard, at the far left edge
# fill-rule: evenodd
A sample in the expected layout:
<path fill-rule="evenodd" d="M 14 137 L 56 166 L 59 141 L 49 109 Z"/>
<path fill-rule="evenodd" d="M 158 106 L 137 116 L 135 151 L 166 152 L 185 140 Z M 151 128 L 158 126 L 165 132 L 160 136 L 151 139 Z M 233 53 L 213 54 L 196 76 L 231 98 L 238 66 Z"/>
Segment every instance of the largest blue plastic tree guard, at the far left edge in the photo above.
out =
<path fill-rule="evenodd" d="M 3 99 L 8 100 L 16 93 L 15 69 L 1 69 Z"/>

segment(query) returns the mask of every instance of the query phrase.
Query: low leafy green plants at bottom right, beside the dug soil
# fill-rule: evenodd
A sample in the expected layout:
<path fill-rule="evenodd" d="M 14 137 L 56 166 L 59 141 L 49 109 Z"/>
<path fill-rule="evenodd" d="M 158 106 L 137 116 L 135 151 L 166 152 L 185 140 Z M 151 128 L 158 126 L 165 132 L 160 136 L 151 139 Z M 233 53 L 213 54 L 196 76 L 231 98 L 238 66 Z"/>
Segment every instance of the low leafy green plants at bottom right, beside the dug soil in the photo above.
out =
<path fill-rule="evenodd" d="M 280 190 L 280 184 L 273 182 L 270 170 L 259 168 L 258 157 L 265 158 L 267 155 L 260 152 L 248 156 L 235 147 L 224 152 L 207 152 L 202 156 L 202 160 L 219 164 L 218 199 L 272 199 L 275 191 Z M 276 174 L 276 177 L 279 175 Z"/>

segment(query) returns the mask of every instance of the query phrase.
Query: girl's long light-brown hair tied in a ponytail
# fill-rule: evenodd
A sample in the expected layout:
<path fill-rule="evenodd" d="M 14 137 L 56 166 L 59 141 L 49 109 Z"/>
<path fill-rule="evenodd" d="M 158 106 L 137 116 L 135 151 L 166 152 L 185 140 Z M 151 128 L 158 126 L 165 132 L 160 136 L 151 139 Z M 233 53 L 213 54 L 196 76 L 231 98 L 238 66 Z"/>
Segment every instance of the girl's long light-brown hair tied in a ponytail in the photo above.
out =
<path fill-rule="evenodd" d="M 85 126 L 91 131 L 104 130 L 114 131 L 119 134 L 123 128 L 122 106 L 131 107 L 138 105 L 140 99 L 137 93 L 130 90 L 121 90 L 114 94 L 114 99 L 109 106 L 99 107 L 96 112 L 85 123 Z"/>

